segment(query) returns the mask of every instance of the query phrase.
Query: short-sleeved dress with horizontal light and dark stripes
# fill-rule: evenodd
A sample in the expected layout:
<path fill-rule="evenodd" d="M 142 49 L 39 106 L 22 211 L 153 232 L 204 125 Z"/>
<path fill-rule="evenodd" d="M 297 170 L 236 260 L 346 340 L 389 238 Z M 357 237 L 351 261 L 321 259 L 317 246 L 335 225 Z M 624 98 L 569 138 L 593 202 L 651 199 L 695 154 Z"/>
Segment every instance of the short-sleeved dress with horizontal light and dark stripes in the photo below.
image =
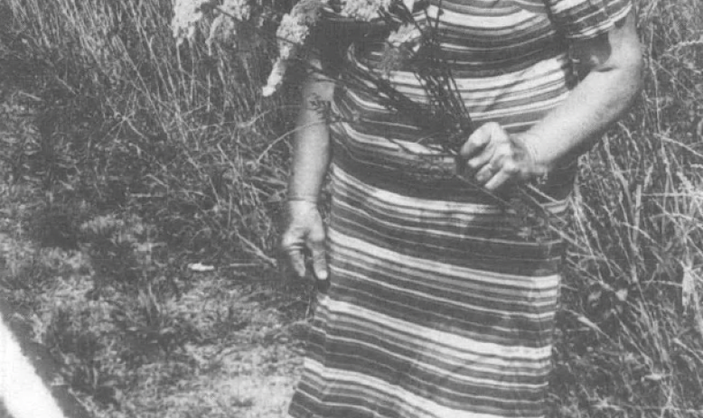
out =
<path fill-rule="evenodd" d="M 439 0 L 431 0 L 430 18 Z M 477 124 L 530 128 L 576 82 L 570 41 L 606 33 L 629 0 L 442 0 L 442 48 Z M 419 17 L 422 18 L 421 16 Z M 373 68 L 357 42 L 346 65 Z M 396 87 L 422 100 L 411 72 Z M 563 245 L 531 237 L 520 211 L 453 176 L 431 144 L 369 95 L 337 88 L 331 285 L 320 294 L 295 418 L 544 416 Z M 437 157 L 435 165 L 453 164 Z M 552 172 L 559 217 L 575 163 Z M 436 172 L 436 171 L 435 171 Z"/>

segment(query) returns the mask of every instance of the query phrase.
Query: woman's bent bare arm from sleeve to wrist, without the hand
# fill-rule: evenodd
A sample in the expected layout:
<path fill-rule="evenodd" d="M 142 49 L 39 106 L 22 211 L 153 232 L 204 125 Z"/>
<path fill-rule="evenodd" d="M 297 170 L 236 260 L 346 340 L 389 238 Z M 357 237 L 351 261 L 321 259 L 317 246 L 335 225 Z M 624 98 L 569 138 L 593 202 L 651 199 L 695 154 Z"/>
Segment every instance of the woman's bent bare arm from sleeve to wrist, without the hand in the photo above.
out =
<path fill-rule="evenodd" d="M 641 88 L 642 57 L 632 14 L 608 36 L 581 47 L 578 58 L 590 69 L 586 78 L 522 138 L 547 171 L 585 153 Z"/>

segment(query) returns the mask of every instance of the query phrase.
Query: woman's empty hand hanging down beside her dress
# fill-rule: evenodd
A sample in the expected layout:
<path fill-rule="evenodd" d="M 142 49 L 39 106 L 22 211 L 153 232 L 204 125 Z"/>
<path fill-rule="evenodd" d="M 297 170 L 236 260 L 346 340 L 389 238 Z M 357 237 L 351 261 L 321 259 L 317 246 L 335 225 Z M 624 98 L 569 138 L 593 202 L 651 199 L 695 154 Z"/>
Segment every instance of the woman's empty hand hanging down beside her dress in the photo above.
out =
<path fill-rule="evenodd" d="M 288 226 L 281 238 L 281 247 L 295 274 L 305 277 L 305 254 L 312 258 L 313 273 L 318 280 L 327 280 L 327 256 L 323 218 L 317 204 L 307 200 L 290 200 Z"/>

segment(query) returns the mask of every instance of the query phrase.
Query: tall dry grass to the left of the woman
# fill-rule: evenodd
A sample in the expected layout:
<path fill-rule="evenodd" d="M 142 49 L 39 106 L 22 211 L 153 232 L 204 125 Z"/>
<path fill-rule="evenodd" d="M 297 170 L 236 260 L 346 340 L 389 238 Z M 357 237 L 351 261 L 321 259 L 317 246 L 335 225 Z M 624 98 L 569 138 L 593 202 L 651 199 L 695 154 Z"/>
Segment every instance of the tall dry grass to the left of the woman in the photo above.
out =
<path fill-rule="evenodd" d="M 173 242 L 270 261 L 267 210 L 278 200 L 285 147 L 269 144 L 287 122 L 280 101 L 259 99 L 267 42 L 240 32 L 211 53 L 176 49 L 169 0 L 1 6 L 12 16 L 5 60 L 17 64 L 5 71 L 31 74 L 43 90 L 41 144 L 19 151 L 33 158 L 15 162 L 25 165 L 15 172 L 37 173 L 41 160 L 38 180 L 67 194 L 63 204 L 139 208 Z"/>

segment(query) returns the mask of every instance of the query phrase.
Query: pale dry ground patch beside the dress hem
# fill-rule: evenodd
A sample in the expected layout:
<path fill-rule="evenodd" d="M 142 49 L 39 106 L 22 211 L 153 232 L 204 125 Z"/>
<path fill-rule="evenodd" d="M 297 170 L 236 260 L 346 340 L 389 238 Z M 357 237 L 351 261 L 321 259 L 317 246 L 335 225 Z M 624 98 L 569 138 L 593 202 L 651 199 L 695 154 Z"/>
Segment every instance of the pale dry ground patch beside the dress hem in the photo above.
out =
<path fill-rule="evenodd" d="M 145 385 L 127 400 L 135 416 L 279 418 L 302 364 L 302 348 L 276 311 L 256 311 L 250 331 L 226 346 L 192 348 L 197 372 L 173 385 Z M 160 366 L 155 366 L 160 367 Z M 148 370 L 145 370 L 148 374 Z M 148 377 L 147 377 L 148 379 Z M 163 414 L 159 414 L 163 413 Z"/>

